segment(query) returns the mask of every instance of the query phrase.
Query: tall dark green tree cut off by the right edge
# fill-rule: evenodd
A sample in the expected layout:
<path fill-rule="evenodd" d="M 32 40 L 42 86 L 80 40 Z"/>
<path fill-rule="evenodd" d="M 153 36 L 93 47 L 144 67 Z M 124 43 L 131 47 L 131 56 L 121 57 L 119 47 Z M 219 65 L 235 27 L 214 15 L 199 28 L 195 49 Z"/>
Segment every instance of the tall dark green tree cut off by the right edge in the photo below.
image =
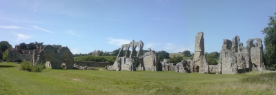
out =
<path fill-rule="evenodd" d="M 262 30 L 264 36 L 264 58 L 267 70 L 276 69 L 276 12 L 275 16 L 269 16 L 268 27 Z"/>

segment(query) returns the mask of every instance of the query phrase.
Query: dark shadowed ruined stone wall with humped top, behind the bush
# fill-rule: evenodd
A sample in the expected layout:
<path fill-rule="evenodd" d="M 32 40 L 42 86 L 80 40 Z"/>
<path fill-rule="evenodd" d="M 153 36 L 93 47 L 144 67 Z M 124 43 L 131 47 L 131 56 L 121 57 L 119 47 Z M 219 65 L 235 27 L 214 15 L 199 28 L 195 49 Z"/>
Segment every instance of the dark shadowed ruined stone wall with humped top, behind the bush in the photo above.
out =
<path fill-rule="evenodd" d="M 68 47 L 61 47 L 59 51 L 52 45 L 46 45 L 41 51 L 34 50 L 32 63 L 46 63 L 49 61 L 52 69 L 60 69 L 62 63 L 66 63 L 66 69 L 73 69 L 74 57 Z"/>

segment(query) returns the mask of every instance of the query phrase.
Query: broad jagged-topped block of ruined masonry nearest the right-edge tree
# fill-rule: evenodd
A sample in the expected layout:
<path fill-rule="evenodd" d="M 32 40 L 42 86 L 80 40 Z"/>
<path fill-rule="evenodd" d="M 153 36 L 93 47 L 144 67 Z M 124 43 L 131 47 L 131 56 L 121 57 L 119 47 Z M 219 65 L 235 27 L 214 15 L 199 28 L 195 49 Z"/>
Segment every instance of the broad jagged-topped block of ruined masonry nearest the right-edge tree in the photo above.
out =
<path fill-rule="evenodd" d="M 246 47 L 239 41 L 239 36 L 235 36 L 232 41 L 224 39 L 217 74 L 265 70 L 262 39 L 248 39 Z"/>

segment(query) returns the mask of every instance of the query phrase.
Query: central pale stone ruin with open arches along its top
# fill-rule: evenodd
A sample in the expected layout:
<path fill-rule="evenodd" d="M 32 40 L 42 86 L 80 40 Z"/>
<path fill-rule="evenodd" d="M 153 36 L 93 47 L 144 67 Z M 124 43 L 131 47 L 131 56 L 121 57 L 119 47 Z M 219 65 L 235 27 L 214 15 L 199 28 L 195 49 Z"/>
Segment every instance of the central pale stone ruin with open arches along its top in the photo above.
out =
<path fill-rule="evenodd" d="M 139 48 L 138 51 L 135 50 L 136 47 Z M 134 40 L 132 40 L 129 44 L 121 45 L 121 49 L 115 63 L 110 65 L 108 70 L 161 71 L 161 63 L 157 59 L 155 51 L 149 49 L 150 52 L 146 52 L 143 55 L 143 47 L 144 43 L 142 41 L 135 42 Z"/>

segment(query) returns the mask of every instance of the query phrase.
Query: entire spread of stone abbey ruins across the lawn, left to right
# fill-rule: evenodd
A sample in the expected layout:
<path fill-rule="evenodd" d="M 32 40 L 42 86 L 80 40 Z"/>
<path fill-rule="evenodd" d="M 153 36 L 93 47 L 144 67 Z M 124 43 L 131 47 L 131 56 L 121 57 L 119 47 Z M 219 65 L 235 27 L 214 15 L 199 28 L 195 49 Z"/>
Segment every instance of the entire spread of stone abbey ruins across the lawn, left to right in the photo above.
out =
<path fill-rule="evenodd" d="M 175 71 L 184 73 L 217 73 L 217 74 L 237 74 L 250 71 L 263 71 L 264 55 L 262 39 L 248 39 L 246 46 L 239 42 L 239 36 L 235 36 L 232 41 L 224 39 L 217 65 L 208 65 L 205 58 L 204 32 L 198 32 L 195 36 L 195 54 L 193 59 L 181 61 L 179 63 L 168 63 L 168 59 L 159 61 L 158 55 L 149 48 L 149 52 L 144 52 L 144 43 L 134 41 L 121 45 L 115 63 L 95 62 L 95 61 L 74 61 L 72 52 L 68 47 L 61 47 L 57 50 L 52 45 L 46 45 L 42 49 L 36 50 L 17 50 L 8 49 L 8 59 L 17 61 L 31 61 L 34 63 L 46 63 L 47 67 L 53 69 L 75 69 L 83 67 L 105 67 L 111 71 Z M 136 50 L 138 48 L 138 50 Z M 94 56 L 99 55 L 94 51 Z M 143 54 L 144 52 L 144 54 Z"/>

